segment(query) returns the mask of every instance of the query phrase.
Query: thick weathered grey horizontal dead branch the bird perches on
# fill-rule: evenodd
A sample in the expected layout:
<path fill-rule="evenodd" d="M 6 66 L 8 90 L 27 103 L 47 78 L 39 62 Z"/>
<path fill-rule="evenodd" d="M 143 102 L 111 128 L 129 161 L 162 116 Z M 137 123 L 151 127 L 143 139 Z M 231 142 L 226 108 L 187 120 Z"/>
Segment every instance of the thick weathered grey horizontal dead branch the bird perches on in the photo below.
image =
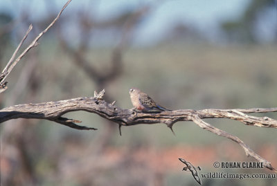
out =
<path fill-rule="evenodd" d="M 264 158 L 256 154 L 250 149 L 240 138 L 233 136 L 226 131 L 217 129 L 211 124 L 204 122 L 205 118 L 228 118 L 231 120 L 238 120 L 244 124 L 257 127 L 272 127 L 277 128 L 277 120 L 268 117 L 256 117 L 247 115 L 247 113 L 267 113 L 276 112 L 277 108 L 269 109 L 203 109 L 203 110 L 176 110 L 176 111 L 164 111 L 161 113 L 143 113 L 134 109 L 121 109 L 114 105 L 114 102 L 109 104 L 103 100 L 105 90 L 100 93 L 94 93 L 94 97 L 78 97 L 71 100 L 62 100 L 57 102 L 43 102 L 39 104 L 19 104 L 15 106 L 9 106 L 0 110 L 0 123 L 17 118 L 35 118 L 51 120 L 60 124 L 64 124 L 68 127 L 89 130 L 95 128 L 84 127 L 75 122 L 79 120 L 73 120 L 62 117 L 64 113 L 71 111 L 87 111 L 90 113 L 96 113 L 102 118 L 111 120 L 119 124 L 119 126 L 132 126 L 136 124 L 154 124 L 165 123 L 170 129 L 175 122 L 179 121 L 193 121 L 203 129 L 211 131 L 224 138 L 229 138 L 237 142 L 247 156 L 251 156 L 262 162 L 268 169 L 276 171 L 271 163 Z"/>

